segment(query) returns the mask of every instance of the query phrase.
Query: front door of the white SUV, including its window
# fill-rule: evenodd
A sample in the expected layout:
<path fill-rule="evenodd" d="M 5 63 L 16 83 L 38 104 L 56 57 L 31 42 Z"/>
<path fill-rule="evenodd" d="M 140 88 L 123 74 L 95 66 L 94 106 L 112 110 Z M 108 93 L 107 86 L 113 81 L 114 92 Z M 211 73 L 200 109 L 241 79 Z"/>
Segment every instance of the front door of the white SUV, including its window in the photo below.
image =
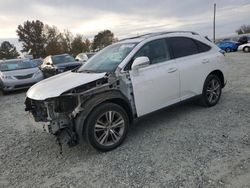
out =
<path fill-rule="evenodd" d="M 145 44 L 135 55 L 147 56 L 150 65 L 130 71 L 138 116 L 180 101 L 180 75 L 165 39 Z"/>

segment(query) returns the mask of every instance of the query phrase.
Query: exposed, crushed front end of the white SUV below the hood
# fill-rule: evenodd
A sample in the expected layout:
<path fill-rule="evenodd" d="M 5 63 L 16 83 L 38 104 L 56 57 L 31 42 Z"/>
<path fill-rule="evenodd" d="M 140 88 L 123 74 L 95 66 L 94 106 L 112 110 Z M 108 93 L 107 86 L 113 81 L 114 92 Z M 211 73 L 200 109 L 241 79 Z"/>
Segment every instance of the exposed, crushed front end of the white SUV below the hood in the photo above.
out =
<path fill-rule="evenodd" d="M 32 113 L 36 122 L 47 122 L 49 133 L 55 135 L 60 144 L 77 144 L 72 111 L 77 107 L 76 96 L 60 96 L 44 101 L 26 98 L 26 111 Z"/>

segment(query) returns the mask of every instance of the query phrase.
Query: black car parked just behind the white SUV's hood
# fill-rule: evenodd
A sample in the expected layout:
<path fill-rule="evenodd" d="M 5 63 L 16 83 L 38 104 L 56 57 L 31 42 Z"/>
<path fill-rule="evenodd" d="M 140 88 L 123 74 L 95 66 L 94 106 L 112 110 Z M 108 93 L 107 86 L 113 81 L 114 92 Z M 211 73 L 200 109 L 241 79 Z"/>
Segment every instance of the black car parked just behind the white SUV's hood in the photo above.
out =
<path fill-rule="evenodd" d="M 69 54 L 61 54 L 47 56 L 40 68 L 44 77 L 48 78 L 65 71 L 75 69 L 81 65 L 82 64 L 80 62 L 77 62 L 75 58 Z"/>

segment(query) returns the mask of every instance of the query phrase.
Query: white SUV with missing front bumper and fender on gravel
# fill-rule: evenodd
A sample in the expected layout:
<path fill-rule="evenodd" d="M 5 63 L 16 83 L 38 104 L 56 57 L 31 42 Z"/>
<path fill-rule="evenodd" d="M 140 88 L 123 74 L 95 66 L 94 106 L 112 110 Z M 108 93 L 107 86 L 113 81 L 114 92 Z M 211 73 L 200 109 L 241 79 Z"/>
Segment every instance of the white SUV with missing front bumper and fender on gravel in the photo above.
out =
<path fill-rule="evenodd" d="M 35 121 L 70 146 L 118 147 L 135 118 L 194 96 L 214 106 L 225 86 L 220 49 L 194 32 L 124 39 L 86 64 L 39 82 L 25 101 Z"/>

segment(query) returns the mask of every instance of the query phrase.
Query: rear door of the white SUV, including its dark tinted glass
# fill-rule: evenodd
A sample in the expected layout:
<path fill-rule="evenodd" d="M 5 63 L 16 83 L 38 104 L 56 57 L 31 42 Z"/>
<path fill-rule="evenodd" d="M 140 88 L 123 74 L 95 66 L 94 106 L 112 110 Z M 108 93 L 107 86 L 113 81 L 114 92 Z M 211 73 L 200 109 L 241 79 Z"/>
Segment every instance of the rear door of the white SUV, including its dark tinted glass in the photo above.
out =
<path fill-rule="evenodd" d="M 168 38 L 180 71 L 180 98 L 188 99 L 202 93 L 211 68 L 210 46 L 188 37 Z"/>

